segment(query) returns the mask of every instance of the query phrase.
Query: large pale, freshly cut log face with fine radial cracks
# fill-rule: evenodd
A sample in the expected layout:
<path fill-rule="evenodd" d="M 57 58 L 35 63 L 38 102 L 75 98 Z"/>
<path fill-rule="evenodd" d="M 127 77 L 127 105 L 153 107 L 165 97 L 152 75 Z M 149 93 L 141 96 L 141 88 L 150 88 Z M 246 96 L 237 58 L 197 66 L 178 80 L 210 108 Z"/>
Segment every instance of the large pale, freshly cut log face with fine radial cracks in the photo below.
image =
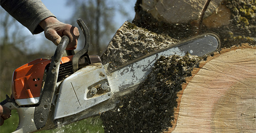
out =
<path fill-rule="evenodd" d="M 223 49 L 186 81 L 169 132 L 256 132 L 256 47 Z"/>

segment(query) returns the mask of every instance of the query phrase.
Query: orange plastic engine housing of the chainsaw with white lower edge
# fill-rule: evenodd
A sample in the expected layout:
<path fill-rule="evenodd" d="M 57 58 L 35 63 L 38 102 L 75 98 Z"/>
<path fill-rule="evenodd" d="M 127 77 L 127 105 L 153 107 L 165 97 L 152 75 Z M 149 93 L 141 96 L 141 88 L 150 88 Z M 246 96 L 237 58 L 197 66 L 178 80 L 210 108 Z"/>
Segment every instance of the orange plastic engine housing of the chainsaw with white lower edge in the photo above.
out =
<path fill-rule="evenodd" d="M 72 56 L 61 58 L 61 64 L 72 60 Z M 39 100 L 45 67 L 49 59 L 36 59 L 17 68 L 12 75 L 12 96 L 18 105 L 30 105 L 34 98 Z M 37 100 L 37 101 L 38 101 Z"/>

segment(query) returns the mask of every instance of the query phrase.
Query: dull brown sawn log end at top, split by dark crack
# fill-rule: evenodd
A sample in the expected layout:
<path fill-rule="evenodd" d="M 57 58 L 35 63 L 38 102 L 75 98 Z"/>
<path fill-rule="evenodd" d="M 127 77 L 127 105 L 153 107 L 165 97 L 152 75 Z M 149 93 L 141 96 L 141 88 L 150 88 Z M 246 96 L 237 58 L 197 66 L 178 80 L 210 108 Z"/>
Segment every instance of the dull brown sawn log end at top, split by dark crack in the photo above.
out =
<path fill-rule="evenodd" d="M 142 0 L 142 10 L 156 20 L 167 23 L 187 23 L 198 20 L 209 0 Z M 204 17 L 210 16 L 223 0 L 211 0 Z"/>

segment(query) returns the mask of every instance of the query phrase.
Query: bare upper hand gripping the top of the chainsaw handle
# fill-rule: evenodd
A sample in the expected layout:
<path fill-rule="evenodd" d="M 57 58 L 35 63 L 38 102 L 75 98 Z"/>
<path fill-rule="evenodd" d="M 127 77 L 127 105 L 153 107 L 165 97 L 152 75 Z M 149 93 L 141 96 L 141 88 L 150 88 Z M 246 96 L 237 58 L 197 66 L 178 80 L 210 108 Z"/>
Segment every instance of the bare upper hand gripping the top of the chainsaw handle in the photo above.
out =
<path fill-rule="evenodd" d="M 79 37 L 77 27 L 62 23 L 54 17 L 46 18 L 41 21 L 39 25 L 45 30 L 45 37 L 55 45 L 58 45 L 61 42 L 61 36 L 67 35 L 69 37 L 69 44 L 66 47 L 66 50 L 77 48 L 77 39 Z"/>

